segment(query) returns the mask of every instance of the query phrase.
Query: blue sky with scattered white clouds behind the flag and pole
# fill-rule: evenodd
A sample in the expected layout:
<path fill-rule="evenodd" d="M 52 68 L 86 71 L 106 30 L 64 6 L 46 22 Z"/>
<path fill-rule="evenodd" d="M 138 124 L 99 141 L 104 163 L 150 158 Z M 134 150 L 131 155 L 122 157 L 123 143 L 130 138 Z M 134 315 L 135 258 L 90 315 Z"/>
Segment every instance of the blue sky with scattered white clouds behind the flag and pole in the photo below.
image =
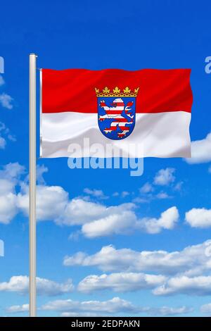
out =
<path fill-rule="evenodd" d="M 141 177 L 119 169 L 70 170 L 66 158 L 37 160 L 43 203 L 37 224 L 39 316 L 211 314 L 211 74 L 205 73 L 210 6 L 209 1 L 124 0 L 1 4 L 1 316 L 27 315 L 32 52 L 39 68 L 191 68 L 191 140 L 197 156 L 191 164 L 146 158 Z M 125 215 L 124 234 L 117 223 L 109 233 L 90 238 L 82 225 L 90 220 L 87 210 L 95 218 Z M 166 211 L 169 229 L 162 226 Z M 139 230 L 136 221 L 141 221 Z"/>

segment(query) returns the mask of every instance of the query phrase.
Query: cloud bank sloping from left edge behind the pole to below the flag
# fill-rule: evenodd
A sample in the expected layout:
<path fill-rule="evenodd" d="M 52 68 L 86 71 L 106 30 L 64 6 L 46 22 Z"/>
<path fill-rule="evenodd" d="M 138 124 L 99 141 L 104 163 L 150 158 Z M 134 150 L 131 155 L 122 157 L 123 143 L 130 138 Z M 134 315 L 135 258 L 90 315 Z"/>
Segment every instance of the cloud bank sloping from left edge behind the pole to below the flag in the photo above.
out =
<path fill-rule="evenodd" d="M 23 169 L 18 163 L 10 163 L 0 171 L 0 179 L 6 179 L 7 185 L 10 183 L 13 187 L 7 192 L 4 189 L 1 194 L 1 223 L 9 223 L 19 212 L 28 216 L 28 176 L 20 180 Z M 176 207 L 167 209 L 158 219 L 139 218 L 134 203 L 106 206 L 80 197 L 70 200 L 63 187 L 44 183 L 43 175 L 46 171 L 44 166 L 37 168 L 37 220 L 51 220 L 58 225 L 79 225 L 82 235 L 88 238 L 125 235 L 136 230 L 153 234 L 163 229 L 172 230 L 177 223 L 179 214 Z"/>

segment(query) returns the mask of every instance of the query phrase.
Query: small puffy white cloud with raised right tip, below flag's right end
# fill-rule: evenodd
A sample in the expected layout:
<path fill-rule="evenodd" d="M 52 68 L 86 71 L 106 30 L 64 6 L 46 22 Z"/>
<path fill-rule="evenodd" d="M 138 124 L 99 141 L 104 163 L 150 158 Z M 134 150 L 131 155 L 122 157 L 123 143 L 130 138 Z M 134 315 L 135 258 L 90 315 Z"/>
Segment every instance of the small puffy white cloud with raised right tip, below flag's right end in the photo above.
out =
<path fill-rule="evenodd" d="M 159 233 L 161 230 L 172 230 L 179 220 L 177 207 L 172 207 L 161 213 L 160 218 L 143 218 L 137 227 L 151 234 Z"/>

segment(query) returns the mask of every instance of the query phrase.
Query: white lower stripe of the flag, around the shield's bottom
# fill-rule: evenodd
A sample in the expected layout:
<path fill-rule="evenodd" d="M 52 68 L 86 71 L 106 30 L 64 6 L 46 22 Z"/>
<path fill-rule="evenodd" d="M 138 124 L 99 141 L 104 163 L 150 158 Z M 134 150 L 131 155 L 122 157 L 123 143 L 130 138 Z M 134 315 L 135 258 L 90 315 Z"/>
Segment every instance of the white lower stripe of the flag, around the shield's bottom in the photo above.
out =
<path fill-rule="evenodd" d="M 106 144 L 113 144 L 120 151 L 127 149 L 129 144 L 142 144 L 139 151 L 130 151 L 130 157 L 191 157 L 191 113 L 185 111 L 138 113 L 134 131 L 122 140 L 111 140 L 103 136 L 98 127 L 97 113 L 43 113 L 41 116 L 44 158 L 70 156 L 68 146 L 83 146 L 84 138 L 89 138 L 90 145 L 102 145 L 102 150 L 95 155 L 99 158 L 106 157 Z M 90 156 L 88 149 L 83 153 L 86 157 Z"/>

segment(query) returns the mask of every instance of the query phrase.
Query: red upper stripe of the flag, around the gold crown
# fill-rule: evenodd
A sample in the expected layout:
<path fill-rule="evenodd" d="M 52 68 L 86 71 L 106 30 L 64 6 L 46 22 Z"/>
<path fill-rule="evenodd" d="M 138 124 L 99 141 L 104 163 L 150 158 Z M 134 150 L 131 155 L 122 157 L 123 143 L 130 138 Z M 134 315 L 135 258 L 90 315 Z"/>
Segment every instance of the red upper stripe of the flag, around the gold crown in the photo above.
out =
<path fill-rule="evenodd" d="M 190 74 L 190 69 L 43 69 L 42 111 L 97 113 L 95 88 L 108 87 L 112 92 L 115 87 L 121 90 L 139 87 L 136 113 L 191 112 Z M 103 99 L 106 101 L 106 97 Z"/>

